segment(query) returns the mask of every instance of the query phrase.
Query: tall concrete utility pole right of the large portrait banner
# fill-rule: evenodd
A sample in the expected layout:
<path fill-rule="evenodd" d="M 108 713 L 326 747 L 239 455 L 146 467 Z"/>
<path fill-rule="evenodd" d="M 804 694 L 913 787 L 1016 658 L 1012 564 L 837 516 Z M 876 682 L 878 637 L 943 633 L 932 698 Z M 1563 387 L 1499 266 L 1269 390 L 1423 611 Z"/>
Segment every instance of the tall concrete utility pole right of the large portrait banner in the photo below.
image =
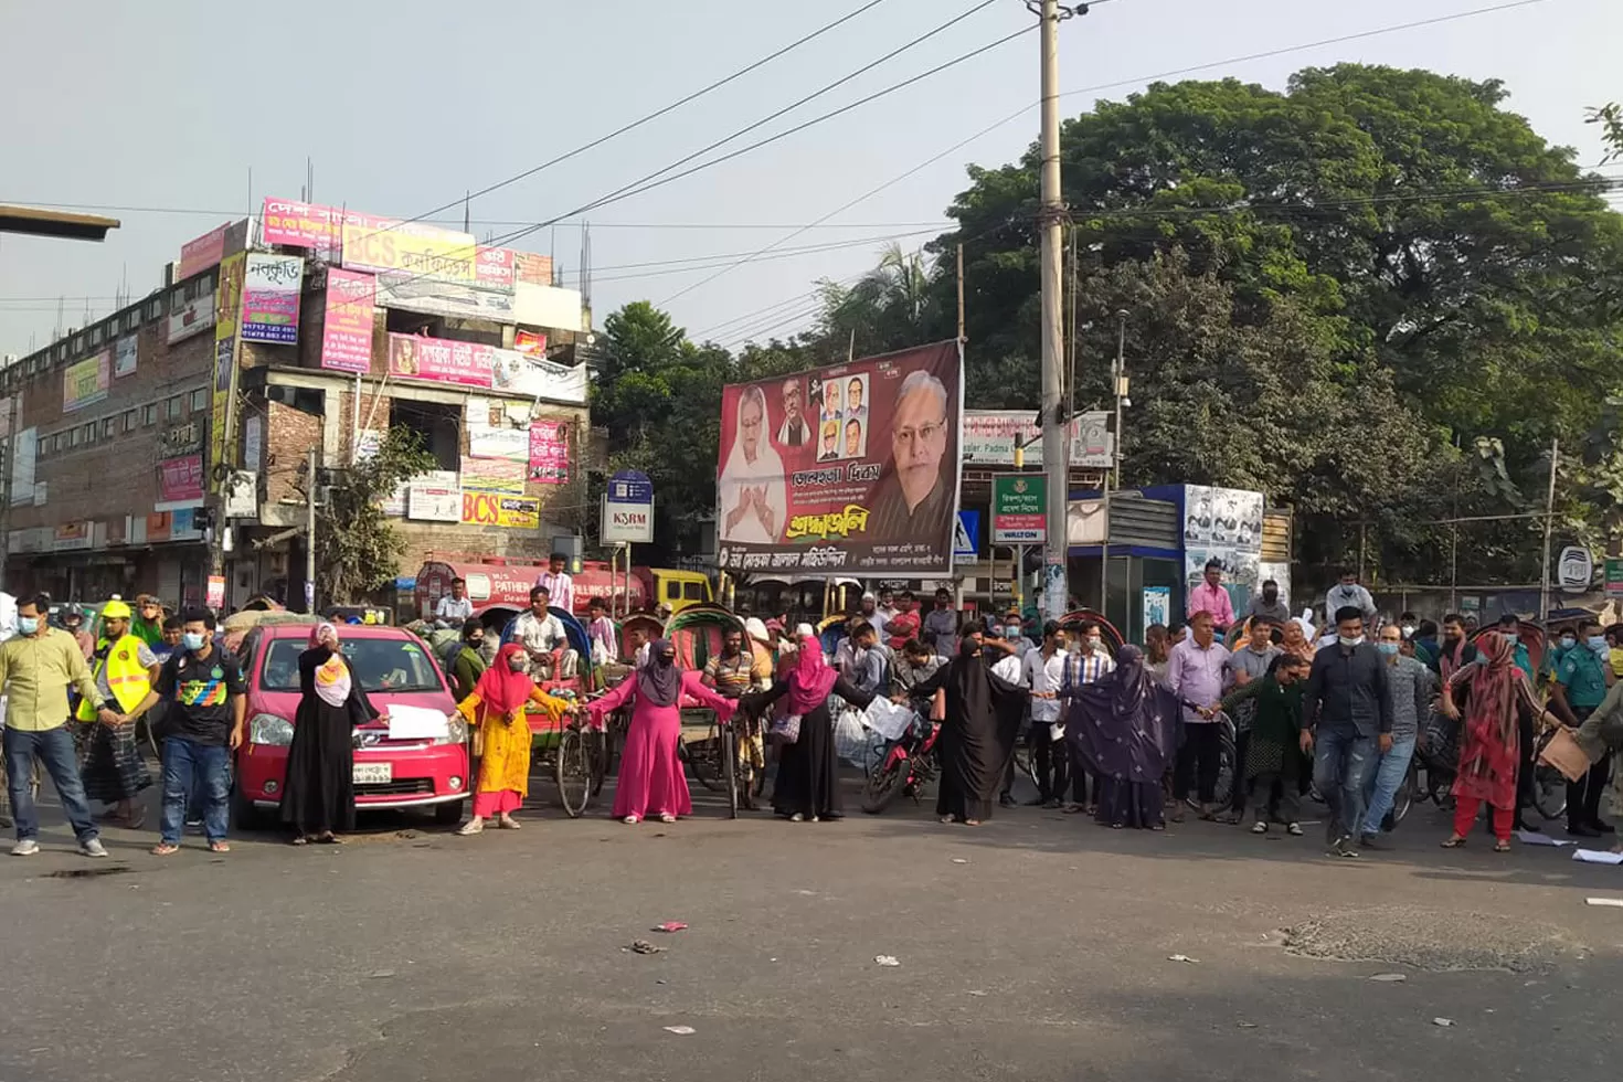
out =
<path fill-rule="evenodd" d="M 1071 456 L 1066 448 L 1063 414 L 1065 380 L 1061 370 L 1063 305 L 1061 305 L 1061 237 L 1065 198 L 1060 190 L 1060 19 L 1071 15 L 1057 0 L 1026 0 L 1026 8 L 1040 19 L 1042 49 L 1042 203 L 1037 224 L 1042 229 L 1042 467 L 1048 487 L 1047 540 L 1042 550 L 1042 608 L 1057 620 L 1070 595 L 1065 532 L 1065 506 L 1070 498 Z"/>

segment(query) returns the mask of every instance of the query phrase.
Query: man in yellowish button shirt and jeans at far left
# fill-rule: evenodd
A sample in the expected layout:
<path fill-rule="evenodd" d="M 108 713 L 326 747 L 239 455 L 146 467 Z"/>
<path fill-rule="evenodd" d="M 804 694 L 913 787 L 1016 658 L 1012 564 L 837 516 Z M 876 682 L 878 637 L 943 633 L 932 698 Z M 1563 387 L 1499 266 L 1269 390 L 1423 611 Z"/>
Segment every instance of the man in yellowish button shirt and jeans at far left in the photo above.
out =
<path fill-rule="evenodd" d="M 11 855 L 32 857 L 39 852 L 39 816 L 29 787 L 37 756 L 57 787 L 62 809 L 80 840 L 80 852 L 86 857 L 105 857 L 107 850 L 91 819 L 91 805 L 80 779 L 73 735 L 67 728 L 68 685 L 91 702 L 101 702 L 96 719 L 104 725 L 118 720 L 118 704 L 97 691 L 73 636 L 45 621 L 49 607 L 41 597 L 18 600 L 16 636 L 0 644 L 0 688 L 6 694 L 6 787 L 11 793 L 11 818 L 16 819 Z"/>

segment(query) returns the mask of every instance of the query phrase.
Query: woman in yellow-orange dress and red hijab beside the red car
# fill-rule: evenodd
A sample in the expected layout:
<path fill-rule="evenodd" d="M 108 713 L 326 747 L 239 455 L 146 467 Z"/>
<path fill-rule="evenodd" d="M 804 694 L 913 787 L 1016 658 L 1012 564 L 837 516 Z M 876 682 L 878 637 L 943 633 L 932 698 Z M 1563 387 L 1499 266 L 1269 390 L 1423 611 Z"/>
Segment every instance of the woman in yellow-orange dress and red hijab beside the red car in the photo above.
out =
<path fill-rule="evenodd" d="M 480 834 L 485 819 L 495 819 L 503 831 L 518 829 L 513 813 L 529 793 L 529 719 L 524 707 L 531 702 L 544 707 L 553 725 L 570 709 L 568 702 L 536 686 L 529 678 L 529 654 L 518 642 L 508 642 L 497 652 L 495 665 L 474 683 L 474 693 L 456 706 L 469 725 L 479 727 L 484 746 L 479 784 L 474 787 L 474 816 L 456 831 L 463 837 Z"/>

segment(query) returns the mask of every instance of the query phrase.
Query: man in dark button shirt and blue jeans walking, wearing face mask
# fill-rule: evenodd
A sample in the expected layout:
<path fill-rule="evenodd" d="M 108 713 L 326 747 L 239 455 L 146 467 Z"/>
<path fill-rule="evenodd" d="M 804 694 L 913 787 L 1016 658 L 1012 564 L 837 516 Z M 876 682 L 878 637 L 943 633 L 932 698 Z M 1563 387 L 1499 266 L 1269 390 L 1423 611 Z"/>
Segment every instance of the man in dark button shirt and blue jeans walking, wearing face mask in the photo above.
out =
<path fill-rule="evenodd" d="M 1329 855 L 1357 857 L 1363 787 L 1376 748 L 1393 749 L 1386 662 L 1363 638 L 1362 608 L 1336 612 L 1336 641 L 1313 655 L 1302 719 L 1302 749 L 1313 749 L 1313 782 L 1329 808 Z"/>

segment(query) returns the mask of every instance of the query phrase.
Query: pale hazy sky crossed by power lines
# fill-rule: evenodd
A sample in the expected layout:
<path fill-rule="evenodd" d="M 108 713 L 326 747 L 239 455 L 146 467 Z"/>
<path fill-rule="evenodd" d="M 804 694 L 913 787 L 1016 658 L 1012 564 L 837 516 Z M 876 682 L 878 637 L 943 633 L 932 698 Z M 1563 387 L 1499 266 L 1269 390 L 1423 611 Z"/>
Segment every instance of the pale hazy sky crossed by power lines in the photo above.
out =
<path fill-rule="evenodd" d="M 1493 0 L 1113 0 L 1063 24 L 1068 115 L 1125 97 L 1151 76 L 1237 76 L 1279 88 L 1344 60 L 1500 78 L 1509 107 L 1582 164 L 1600 159 L 1584 107 L 1623 97 L 1617 44 L 1623 0 L 1543 0 L 1436 26 L 1261 60 L 1251 54 L 1492 6 Z M 476 200 L 474 232 L 557 217 L 876 60 L 975 0 L 885 0 L 875 10 L 677 114 Z M 0 238 L 0 352 L 49 341 L 57 297 L 83 324 L 86 297 L 107 315 L 120 281 L 140 297 L 180 245 L 265 195 L 297 198 L 305 159 L 320 203 L 409 217 L 459 200 L 740 68 L 860 0 L 440 3 L 151 3 L 75 0 L 0 5 L 0 203 L 67 203 L 123 221 L 107 243 Z M 1031 23 L 998 0 L 875 71 L 738 144 L 855 101 Z M 1183 76 L 1169 76 L 1183 78 Z M 1104 88 L 1104 89 L 1097 89 Z M 883 193 L 784 243 L 859 242 L 734 269 L 670 302 L 695 336 L 803 323 L 818 277 L 872 264 L 889 234 L 915 247 L 940 232 L 964 165 L 997 165 L 1035 135 L 1037 41 L 1022 36 L 805 133 L 592 211 L 597 323 L 615 307 L 664 302 L 714 268 L 651 264 L 743 255 L 1032 105 Z M 730 144 L 735 146 L 735 144 Z M 725 149 L 730 149 L 724 148 Z M 717 152 L 724 152 L 717 151 Z M 183 213 L 172 213 L 183 211 Z M 461 222 L 461 208 L 448 213 Z M 701 224 L 706 229 L 675 229 Z M 576 222 L 514 247 L 553 248 L 570 282 Z M 691 264 L 685 264 L 691 266 Z M 774 305 L 782 305 L 773 308 Z M 763 313 L 763 310 L 766 310 Z M 750 313 L 761 313 L 743 320 Z M 776 323 L 774 323 L 776 321 Z"/>

